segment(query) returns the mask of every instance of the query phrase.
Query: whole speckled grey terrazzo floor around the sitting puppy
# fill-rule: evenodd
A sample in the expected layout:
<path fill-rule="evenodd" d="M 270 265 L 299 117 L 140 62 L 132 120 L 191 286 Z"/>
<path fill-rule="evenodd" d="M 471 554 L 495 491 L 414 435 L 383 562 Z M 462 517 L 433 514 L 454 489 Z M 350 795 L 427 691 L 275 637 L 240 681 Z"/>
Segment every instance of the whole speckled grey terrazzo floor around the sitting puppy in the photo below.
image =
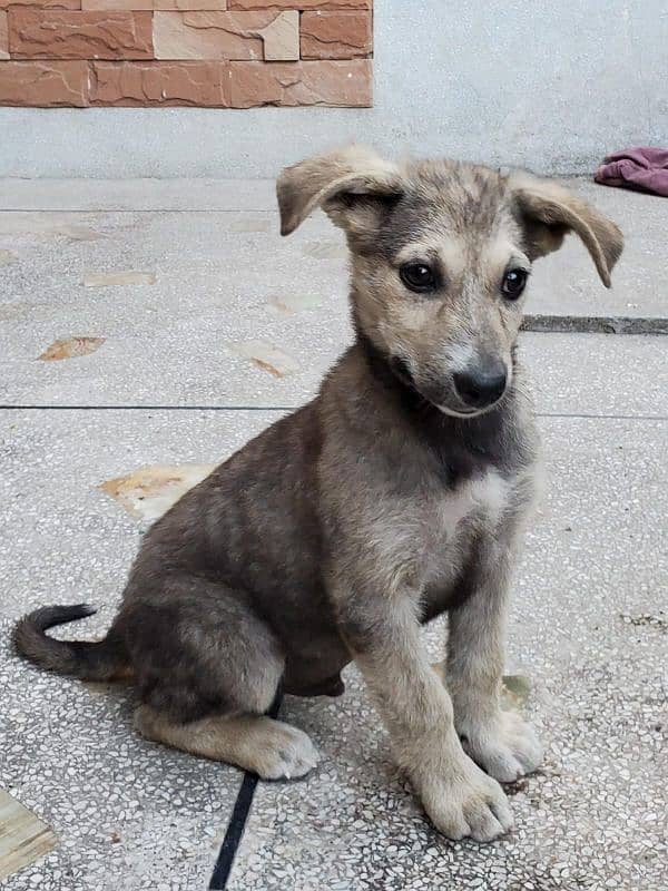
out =
<path fill-rule="evenodd" d="M 627 233 L 616 290 L 573 243 L 537 267 L 529 311 L 660 330 L 668 203 L 577 187 Z M 350 339 L 342 244 L 323 218 L 281 241 L 266 184 L 105 188 L 0 184 L 13 208 L 0 212 L 0 784 L 59 838 L 9 891 L 208 885 L 242 774 L 145 743 L 130 691 L 39 673 L 7 633 L 35 606 L 87 600 L 99 614 L 63 634 L 101 634 L 164 505 L 134 501 L 132 516 L 100 484 L 219 462 L 308 399 Z M 84 284 L 119 272 L 155 283 Z M 39 361 L 58 340 L 94 351 Z M 549 486 L 508 673 L 530 684 L 548 754 L 511 790 L 517 830 L 484 848 L 439 838 L 351 669 L 342 699 L 284 702 L 323 761 L 303 782 L 258 785 L 229 889 L 668 888 L 666 340 L 525 333 L 521 351 Z M 441 631 L 426 631 L 434 660 Z"/>

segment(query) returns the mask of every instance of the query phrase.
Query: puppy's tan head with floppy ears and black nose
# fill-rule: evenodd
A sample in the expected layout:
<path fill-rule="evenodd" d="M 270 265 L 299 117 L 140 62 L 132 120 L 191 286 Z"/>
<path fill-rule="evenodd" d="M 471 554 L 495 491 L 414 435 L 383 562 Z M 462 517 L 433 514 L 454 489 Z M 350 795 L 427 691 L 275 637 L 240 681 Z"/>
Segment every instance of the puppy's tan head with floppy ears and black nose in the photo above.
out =
<path fill-rule="evenodd" d="M 532 262 L 577 233 L 606 286 L 617 226 L 552 183 L 456 161 L 394 164 L 358 146 L 288 167 L 281 231 L 316 207 L 344 229 L 355 324 L 395 374 L 470 417 L 507 392 Z"/>

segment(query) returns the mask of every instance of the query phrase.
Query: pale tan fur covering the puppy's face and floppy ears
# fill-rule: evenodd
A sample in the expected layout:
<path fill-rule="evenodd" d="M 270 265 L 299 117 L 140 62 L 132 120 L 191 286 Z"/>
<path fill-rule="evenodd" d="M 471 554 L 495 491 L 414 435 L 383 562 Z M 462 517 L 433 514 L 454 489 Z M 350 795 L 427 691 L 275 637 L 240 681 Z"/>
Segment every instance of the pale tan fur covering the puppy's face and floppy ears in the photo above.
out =
<path fill-rule="evenodd" d="M 433 176 L 433 184 L 424 182 L 425 174 Z M 451 180 L 452 193 L 439 196 L 440 183 L 445 179 Z M 469 203 L 480 180 L 491 197 L 490 206 L 483 208 L 484 228 L 478 229 L 480 222 L 473 216 L 477 208 L 470 208 Z M 386 198 L 415 183 L 430 206 L 422 235 L 411 238 L 394 258 L 379 263 L 377 251 L 371 248 L 377 229 L 376 212 L 367 203 L 351 204 L 342 196 L 353 192 Z M 531 258 L 556 249 L 564 233 L 573 231 L 609 286 L 611 268 L 621 252 L 617 226 L 553 183 L 527 174 L 493 178 L 484 168 L 450 161 L 440 166 L 414 161 L 395 165 L 360 146 L 287 168 L 278 180 L 278 196 L 283 232 L 292 232 L 316 206 L 344 229 L 352 249 L 356 317 L 379 349 L 404 359 L 428 398 L 432 396 L 432 379 L 441 375 L 443 365 L 455 363 L 462 350 L 470 353 L 473 337 L 479 352 L 500 354 L 510 366 L 523 300 L 509 303 L 495 295 L 511 257 L 530 268 Z M 519 247 L 520 221 L 525 223 L 531 257 Z M 439 260 L 450 298 L 406 301 L 396 273 L 412 258 Z M 442 408 L 453 411 L 449 404 Z"/>

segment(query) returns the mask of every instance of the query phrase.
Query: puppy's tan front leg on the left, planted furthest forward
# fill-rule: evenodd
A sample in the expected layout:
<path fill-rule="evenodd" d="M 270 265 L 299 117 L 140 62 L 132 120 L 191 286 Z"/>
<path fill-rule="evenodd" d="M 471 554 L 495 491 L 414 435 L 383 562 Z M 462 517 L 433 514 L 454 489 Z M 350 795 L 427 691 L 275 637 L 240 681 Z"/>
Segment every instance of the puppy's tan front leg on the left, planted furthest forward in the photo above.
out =
<path fill-rule="evenodd" d="M 451 839 L 491 841 L 512 826 L 501 786 L 462 750 L 452 703 L 420 640 L 415 599 L 347 599 L 341 628 L 424 810 Z"/>

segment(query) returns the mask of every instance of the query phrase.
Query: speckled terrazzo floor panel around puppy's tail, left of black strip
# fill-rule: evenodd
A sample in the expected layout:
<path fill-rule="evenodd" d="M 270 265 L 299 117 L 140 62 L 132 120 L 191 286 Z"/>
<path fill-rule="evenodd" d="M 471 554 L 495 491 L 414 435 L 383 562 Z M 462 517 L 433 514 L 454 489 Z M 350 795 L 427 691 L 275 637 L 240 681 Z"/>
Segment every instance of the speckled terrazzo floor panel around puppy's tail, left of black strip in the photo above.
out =
<path fill-rule="evenodd" d="M 146 464 L 216 462 L 273 417 L 0 414 L 0 786 L 60 840 L 8 891 L 207 887 L 240 772 L 143 741 L 130 689 L 39 672 L 9 634 L 38 605 L 87 600 L 98 615 L 61 634 L 100 636 L 146 527 L 100 483 Z"/>

